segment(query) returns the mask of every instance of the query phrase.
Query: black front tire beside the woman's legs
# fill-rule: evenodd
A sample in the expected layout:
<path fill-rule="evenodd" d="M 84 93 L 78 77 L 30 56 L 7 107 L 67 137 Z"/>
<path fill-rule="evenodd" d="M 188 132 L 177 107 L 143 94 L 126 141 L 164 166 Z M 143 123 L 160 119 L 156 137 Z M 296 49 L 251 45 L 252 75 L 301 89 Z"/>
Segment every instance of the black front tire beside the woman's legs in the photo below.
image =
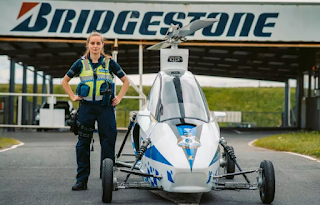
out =
<path fill-rule="evenodd" d="M 102 201 L 111 203 L 113 191 L 113 161 L 106 158 L 102 161 Z"/>

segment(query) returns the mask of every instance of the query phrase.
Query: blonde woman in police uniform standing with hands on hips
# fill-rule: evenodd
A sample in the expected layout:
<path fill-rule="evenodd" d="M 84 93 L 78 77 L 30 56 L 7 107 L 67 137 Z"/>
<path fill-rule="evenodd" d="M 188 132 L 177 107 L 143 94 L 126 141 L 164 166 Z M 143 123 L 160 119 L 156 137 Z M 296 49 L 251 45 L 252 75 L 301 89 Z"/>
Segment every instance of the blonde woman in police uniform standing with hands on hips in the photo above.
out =
<path fill-rule="evenodd" d="M 72 190 L 86 190 L 90 174 L 90 142 L 95 121 L 101 145 L 101 162 L 105 158 L 115 157 L 117 137 L 114 106 L 118 105 L 129 88 L 129 81 L 118 63 L 104 53 L 103 37 L 93 31 L 86 42 L 86 52 L 78 59 L 62 80 L 62 86 L 72 101 L 81 101 L 78 110 L 77 182 Z M 76 95 L 72 92 L 69 81 L 80 76 Z M 123 82 L 118 96 L 114 96 L 113 77 L 116 75 Z"/>

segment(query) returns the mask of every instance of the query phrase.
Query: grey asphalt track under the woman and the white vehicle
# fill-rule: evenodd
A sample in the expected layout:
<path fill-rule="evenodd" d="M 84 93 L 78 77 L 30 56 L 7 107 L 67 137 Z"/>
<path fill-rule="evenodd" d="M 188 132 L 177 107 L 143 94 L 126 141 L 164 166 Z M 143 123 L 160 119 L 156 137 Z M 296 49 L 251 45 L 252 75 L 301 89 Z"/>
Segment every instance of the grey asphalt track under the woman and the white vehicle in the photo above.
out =
<path fill-rule="evenodd" d="M 271 160 L 276 173 L 276 195 L 273 204 L 319 204 L 320 163 L 284 152 L 250 147 L 248 142 L 274 132 L 222 132 L 235 149 L 244 169 L 259 167 L 262 160 Z M 77 138 L 69 132 L 6 132 L 25 143 L 0 153 L 0 204 L 102 204 L 99 178 L 100 148 L 97 134 L 95 151 L 91 152 L 91 175 L 86 191 L 71 191 L 75 183 Z M 119 133 L 117 149 L 124 133 Z M 124 153 L 132 153 L 127 143 Z M 117 172 L 119 180 L 125 175 Z M 256 175 L 250 180 L 255 181 Z M 140 177 L 129 180 L 139 181 Z M 236 181 L 244 181 L 236 176 Z M 113 193 L 113 204 L 262 204 L 254 191 L 211 191 L 201 195 L 168 194 L 148 190 L 119 190 Z"/>

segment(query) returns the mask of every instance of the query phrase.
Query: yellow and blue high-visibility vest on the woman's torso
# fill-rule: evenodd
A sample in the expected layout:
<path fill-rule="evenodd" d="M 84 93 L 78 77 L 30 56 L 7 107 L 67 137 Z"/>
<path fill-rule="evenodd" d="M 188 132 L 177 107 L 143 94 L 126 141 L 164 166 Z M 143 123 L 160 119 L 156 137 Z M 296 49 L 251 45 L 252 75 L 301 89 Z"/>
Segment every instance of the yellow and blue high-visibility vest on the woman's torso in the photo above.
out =
<path fill-rule="evenodd" d="M 86 101 L 100 101 L 103 95 L 100 95 L 101 85 L 107 81 L 113 83 L 113 76 L 109 72 L 110 59 L 103 58 L 105 67 L 100 65 L 96 69 L 93 69 L 90 65 L 89 59 L 82 59 L 82 69 L 80 73 L 81 83 L 89 86 L 89 94 L 86 97 L 82 97 Z M 96 73 L 96 74 L 94 74 Z"/>

